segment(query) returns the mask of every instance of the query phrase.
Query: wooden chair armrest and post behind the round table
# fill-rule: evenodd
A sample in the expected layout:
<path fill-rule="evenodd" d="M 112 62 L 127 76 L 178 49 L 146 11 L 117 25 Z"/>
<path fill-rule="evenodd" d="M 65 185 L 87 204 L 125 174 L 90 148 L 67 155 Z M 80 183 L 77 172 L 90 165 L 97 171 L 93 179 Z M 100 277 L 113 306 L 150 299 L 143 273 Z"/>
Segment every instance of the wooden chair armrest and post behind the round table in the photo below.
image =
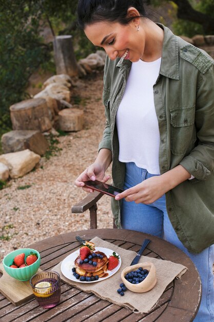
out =
<path fill-rule="evenodd" d="M 101 199 L 103 193 L 94 191 L 92 193 L 88 193 L 86 198 L 81 200 L 79 203 L 75 204 L 71 208 L 72 213 L 83 213 L 84 211 L 90 211 L 90 229 L 98 228 L 98 219 L 96 210 L 98 210 L 98 206 L 96 203 Z M 113 221 L 113 228 L 116 228 L 116 225 Z"/>

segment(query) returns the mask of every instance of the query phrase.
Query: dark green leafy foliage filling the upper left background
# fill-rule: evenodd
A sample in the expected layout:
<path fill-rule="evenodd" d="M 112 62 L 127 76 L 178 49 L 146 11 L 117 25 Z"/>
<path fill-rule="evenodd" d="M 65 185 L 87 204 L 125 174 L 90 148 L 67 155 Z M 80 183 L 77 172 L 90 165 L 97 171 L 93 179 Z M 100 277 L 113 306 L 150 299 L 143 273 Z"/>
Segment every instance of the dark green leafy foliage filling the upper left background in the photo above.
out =
<path fill-rule="evenodd" d="M 0 135 L 11 127 L 9 106 L 27 98 L 29 77 L 39 66 L 47 68 L 52 59 L 52 43 L 41 37 L 44 26 L 49 24 L 55 35 L 72 31 L 77 57 L 85 53 L 77 42 L 91 52 L 83 32 L 76 30 L 77 2 L 0 0 Z"/>

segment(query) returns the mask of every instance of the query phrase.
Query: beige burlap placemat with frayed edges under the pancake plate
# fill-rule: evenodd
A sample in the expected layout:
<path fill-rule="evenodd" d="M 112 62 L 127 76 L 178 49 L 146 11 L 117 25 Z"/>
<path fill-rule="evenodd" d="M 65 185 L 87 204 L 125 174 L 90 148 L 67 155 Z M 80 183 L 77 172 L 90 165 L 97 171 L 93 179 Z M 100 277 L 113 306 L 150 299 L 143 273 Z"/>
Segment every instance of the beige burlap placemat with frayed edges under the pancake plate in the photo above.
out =
<path fill-rule="evenodd" d="M 60 274 L 61 279 L 66 283 L 75 286 L 87 293 L 94 293 L 96 296 L 108 300 L 119 306 L 127 307 L 135 313 L 148 313 L 157 303 L 161 295 L 163 294 L 167 285 L 175 278 L 180 278 L 187 270 L 187 268 L 181 264 L 176 264 L 170 261 L 150 258 L 141 256 L 140 263 L 152 262 L 157 270 L 157 284 L 155 287 L 146 293 L 133 293 L 129 290 L 125 292 L 124 296 L 121 296 L 116 291 L 120 288 L 121 272 L 125 267 L 130 266 L 132 259 L 137 255 L 135 252 L 127 251 L 114 244 L 108 243 L 99 237 L 95 237 L 91 240 L 95 247 L 105 247 L 112 249 L 118 253 L 121 257 L 122 264 L 118 272 L 111 277 L 96 283 L 79 283 L 67 279 L 61 272 L 61 262 L 53 267 L 53 271 Z"/>

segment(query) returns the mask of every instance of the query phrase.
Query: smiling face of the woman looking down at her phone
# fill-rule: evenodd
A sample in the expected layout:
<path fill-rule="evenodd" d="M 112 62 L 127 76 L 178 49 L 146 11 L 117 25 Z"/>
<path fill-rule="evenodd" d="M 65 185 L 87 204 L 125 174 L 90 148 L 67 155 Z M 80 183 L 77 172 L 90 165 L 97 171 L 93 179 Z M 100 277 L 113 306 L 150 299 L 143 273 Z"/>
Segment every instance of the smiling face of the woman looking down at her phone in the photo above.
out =
<path fill-rule="evenodd" d="M 86 26 L 84 31 L 95 46 L 105 49 L 111 60 L 123 57 L 137 62 L 143 57 L 145 35 L 142 29 L 137 31 L 134 21 L 128 25 L 99 22 Z"/>

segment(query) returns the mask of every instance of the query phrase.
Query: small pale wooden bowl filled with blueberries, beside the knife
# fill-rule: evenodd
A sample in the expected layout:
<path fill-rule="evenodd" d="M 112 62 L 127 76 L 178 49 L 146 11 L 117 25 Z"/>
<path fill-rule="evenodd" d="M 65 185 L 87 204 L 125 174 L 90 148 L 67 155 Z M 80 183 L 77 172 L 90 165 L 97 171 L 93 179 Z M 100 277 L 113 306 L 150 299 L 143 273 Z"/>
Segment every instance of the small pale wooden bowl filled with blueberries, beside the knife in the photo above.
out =
<path fill-rule="evenodd" d="M 135 293 L 148 292 L 157 283 L 155 266 L 149 262 L 126 267 L 121 278 L 126 288 Z"/>

